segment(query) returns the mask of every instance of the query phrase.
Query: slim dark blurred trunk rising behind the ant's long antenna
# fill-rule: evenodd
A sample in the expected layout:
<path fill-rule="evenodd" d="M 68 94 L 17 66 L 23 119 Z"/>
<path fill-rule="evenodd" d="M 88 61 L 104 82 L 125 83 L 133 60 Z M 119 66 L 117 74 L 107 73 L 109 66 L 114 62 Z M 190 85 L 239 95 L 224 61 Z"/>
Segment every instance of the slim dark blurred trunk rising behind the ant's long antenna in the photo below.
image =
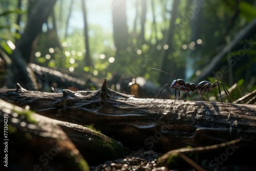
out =
<path fill-rule="evenodd" d="M 173 10 L 172 10 L 172 17 L 170 17 L 170 21 L 169 21 L 169 29 L 168 29 L 168 33 L 167 33 L 167 39 L 166 41 L 163 42 L 163 45 L 167 44 L 169 46 L 168 49 L 164 50 L 162 48 L 162 52 L 161 52 L 161 56 L 160 56 L 160 60 L 159 60 L 159 69 L 162 69 L 163 71 L 168 71 L 168 68 L 175 68 L 175 62 L 170 62 L 170 60 L 168 59 L 168 56 L 170 54 L 172 54 L 172 50 L 173 50 L 173 37 L 174 37 L 174 31 L 175 31 L 175 20 L 177 18 L 177 10 L 178 10 L 178 5 L 179 5 L 179 1 L 178 0 L 174 0 L 173 2 Z M 173 67 L 169 67 L 168 65 L 172 65 Z M 160 72 L 159 73 L 159 83 L 164 84 L 166 83 L 165 81 L 165 73 Z"/>

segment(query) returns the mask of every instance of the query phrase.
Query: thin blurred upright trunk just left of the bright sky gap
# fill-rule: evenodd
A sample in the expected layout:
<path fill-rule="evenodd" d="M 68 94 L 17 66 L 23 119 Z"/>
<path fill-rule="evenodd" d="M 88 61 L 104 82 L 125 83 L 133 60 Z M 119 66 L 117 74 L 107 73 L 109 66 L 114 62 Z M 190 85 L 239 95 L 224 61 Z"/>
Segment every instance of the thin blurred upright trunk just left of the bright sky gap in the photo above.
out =
<path fill-rule="evenodd" d="M 81 0 L 82 3 L 82 13 L 83 13 L 83 24 L 84 24 L 84 43 L 86 44 L 86 55 L 84 56 L 85 66 L 91 65 L 90 60 L 90 48 L 89 48 L 89 36 L 88 36 L 88 23 L 87 23 L 87 9 L 86 0 Z"/>

